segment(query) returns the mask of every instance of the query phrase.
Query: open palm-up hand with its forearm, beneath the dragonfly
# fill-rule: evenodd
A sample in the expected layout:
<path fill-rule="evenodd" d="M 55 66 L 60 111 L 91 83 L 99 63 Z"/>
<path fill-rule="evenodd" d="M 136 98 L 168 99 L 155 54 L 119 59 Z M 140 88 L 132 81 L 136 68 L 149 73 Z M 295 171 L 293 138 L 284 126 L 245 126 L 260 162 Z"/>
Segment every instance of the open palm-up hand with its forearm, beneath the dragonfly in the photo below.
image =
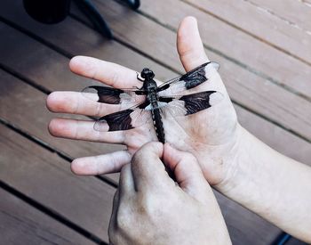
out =
<path fill-rule="evenodd" d="M 177 48 L 186 71 L 209 61 L 204 53 L 196 20 L 187 17 L 179 26 Z M 114 63 L 77 56 L 70 69 L 116 88 L 141 86 L 136 71 Z M 218 73 L 198 87 L 224 95 L 208 110 L 175 119 L 163 119 L 166 141 L 174 148 L 191 152 L 198 160 L 209 184 L 227 197 L 266 218 L 300 240 L 311 242 L 311 168 L 284 157 L 260 142 L 238 123 L 234 107 Z M 54 112 L 103 116 L 119 110 L 116 105 L 99 106 L 76 92 L 55 92 L 47 106 Z M 132 130 L 97 132 L 93 122 L 52 119 L 52 135 L 102 143 L 120 143 L 126 151 L 75 159 L 72 170 L 79 175 L 120 171 L 140 147 L 156 141 L 156 134 L 145 125 Z"/>

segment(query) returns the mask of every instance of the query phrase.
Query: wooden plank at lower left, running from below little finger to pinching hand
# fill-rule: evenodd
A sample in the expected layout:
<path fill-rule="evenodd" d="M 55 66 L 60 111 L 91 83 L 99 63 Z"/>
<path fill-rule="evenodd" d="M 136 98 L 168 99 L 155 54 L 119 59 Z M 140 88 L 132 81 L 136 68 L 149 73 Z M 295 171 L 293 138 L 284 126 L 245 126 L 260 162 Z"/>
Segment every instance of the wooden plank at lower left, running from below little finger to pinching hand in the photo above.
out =
<path fill-rule="evenodd" d="M 71 174 L 68 162 L 3 125 L 0 156 L 4 183 L 108 241 L 114 188 L 94 177 Z"/>

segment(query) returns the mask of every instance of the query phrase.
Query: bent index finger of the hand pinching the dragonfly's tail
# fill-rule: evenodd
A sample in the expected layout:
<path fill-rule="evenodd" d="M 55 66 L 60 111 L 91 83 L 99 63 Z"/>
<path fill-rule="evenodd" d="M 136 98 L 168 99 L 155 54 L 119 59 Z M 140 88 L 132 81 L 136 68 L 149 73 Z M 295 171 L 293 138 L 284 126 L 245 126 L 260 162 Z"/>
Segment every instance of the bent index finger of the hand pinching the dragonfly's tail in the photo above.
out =
<path fill-rule="evenodd" d="M 172 183 L 165 172 L 161 160 L 163 154 L 162 143 L 147 143 L 143 145 L 132 158 L 132 176 L 138 191 L 150 187 L 159 188 Z M 160 187 L 161 188 L 161 187 Z"/>

